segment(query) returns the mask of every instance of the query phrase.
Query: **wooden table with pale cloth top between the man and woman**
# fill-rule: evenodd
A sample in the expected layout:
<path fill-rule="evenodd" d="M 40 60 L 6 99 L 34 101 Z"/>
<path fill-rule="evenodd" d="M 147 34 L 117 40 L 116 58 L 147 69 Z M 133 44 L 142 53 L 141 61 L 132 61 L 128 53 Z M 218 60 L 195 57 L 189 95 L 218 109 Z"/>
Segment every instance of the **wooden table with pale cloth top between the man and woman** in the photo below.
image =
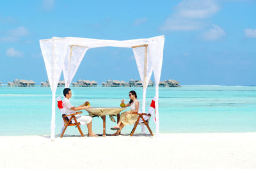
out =
<path fill-rule="evenodd" d="M 120 112 L 125 110 L 126 108 L 122 107 L 91 107 L 91 108 L 84 108 L 90 116 L 100 116 L 103 120 L 103 135 L 106 136 L 106 115 L 116 115 L 117 116 L 117 123 L 120 121 Z"/>

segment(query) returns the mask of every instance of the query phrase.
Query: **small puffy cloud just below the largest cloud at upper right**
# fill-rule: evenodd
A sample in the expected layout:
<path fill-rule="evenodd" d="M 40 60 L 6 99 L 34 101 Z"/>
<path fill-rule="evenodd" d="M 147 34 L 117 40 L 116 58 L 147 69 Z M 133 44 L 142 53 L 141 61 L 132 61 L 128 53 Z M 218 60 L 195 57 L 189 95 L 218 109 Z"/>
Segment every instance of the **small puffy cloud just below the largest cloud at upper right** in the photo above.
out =
<path fill-rule="evenodd" d="M 224 36 L 226 36 L 224 29 L 216 25 L 212 25 L 211 29 L 202 33 L 202 38 L 204 40 L 220 40 Z"/>

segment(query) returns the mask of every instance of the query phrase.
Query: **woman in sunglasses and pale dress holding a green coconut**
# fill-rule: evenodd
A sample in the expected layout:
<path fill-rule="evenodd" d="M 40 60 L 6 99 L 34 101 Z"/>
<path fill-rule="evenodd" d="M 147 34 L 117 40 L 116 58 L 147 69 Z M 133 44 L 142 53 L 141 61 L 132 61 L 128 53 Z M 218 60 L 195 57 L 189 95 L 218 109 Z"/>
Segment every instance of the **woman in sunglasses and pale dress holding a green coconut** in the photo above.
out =
<path fill-rule="evenodd" d="M 117 130 L 116 133 L 113 134 L 114 136 L 120 135 L 120 131 L 122 130 L 122 128 L 124 128 L 124 126 L 129 124 L 134 124 L 137 121 L 138 115 L 132 114 L 132 113 L 139 113 L 139 114 L 141 113 L 140 102 L 137 99 L 136 92 L 130 91 L 129 98 L 130 98 L 130 101 L 125 105 L 125 107 L 131 107 L 131 111 L 122 113 L 118 124 L 116 124 L 116 126 L 111 128 L 112 130 Z M 122 99 L 121 102 L 124 103 L 124 99 Z"/>

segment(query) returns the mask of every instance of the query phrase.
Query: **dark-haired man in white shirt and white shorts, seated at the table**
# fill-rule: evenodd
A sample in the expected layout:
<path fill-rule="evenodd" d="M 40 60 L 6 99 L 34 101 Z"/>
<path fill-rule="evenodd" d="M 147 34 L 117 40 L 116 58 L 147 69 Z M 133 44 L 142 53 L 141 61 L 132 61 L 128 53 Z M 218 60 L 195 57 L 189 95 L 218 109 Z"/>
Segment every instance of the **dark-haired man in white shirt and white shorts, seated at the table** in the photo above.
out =
<path fill-rule="evenodd" d="M 65 88 L 63 90 L 63 95 L 65 96 L 65 98 L 63 99 L 63 108 L 67 115 L 74 114 L 78 110 L 83 110 L 84 108 L 90 107 L 90 106 L 85 107 L 84 104 L 80 105 L 79 107 L 74 107 L 69 101 L 69 99 L 72 96 L 71 89 L 69 89 L 69 88 Z M 89 102 L 86 101 L 86 103 L 89 103 Z M 92 117 L 90 117 L 89 115 L 78 115 L 78 114 L 75 116 L 76 116 L 77 122 L 81 122 L 81 124 L 84 124 L 84 123 L 87 124 L 88 136 L 94 136 L 94 137 L 98 136 L 92 132 Z"/>

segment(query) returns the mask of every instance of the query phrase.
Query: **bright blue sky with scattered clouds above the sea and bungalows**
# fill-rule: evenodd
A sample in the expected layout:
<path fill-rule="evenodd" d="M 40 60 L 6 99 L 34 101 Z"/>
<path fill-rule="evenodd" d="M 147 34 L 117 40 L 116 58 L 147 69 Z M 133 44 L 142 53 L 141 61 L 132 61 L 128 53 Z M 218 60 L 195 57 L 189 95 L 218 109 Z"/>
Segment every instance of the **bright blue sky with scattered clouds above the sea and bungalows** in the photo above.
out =
<path fill-rule="evenodd" d="M 255 9 L 254 0 L 2 0 L 0 82 L 45 82 L 39 40 L 52 36 L 131 40 L 164 35 L 161 81 L 256 85 Z M 140 80 L 132 49 L 104 47 L 86 52 L 73 82 L 131 78 Z"/>

